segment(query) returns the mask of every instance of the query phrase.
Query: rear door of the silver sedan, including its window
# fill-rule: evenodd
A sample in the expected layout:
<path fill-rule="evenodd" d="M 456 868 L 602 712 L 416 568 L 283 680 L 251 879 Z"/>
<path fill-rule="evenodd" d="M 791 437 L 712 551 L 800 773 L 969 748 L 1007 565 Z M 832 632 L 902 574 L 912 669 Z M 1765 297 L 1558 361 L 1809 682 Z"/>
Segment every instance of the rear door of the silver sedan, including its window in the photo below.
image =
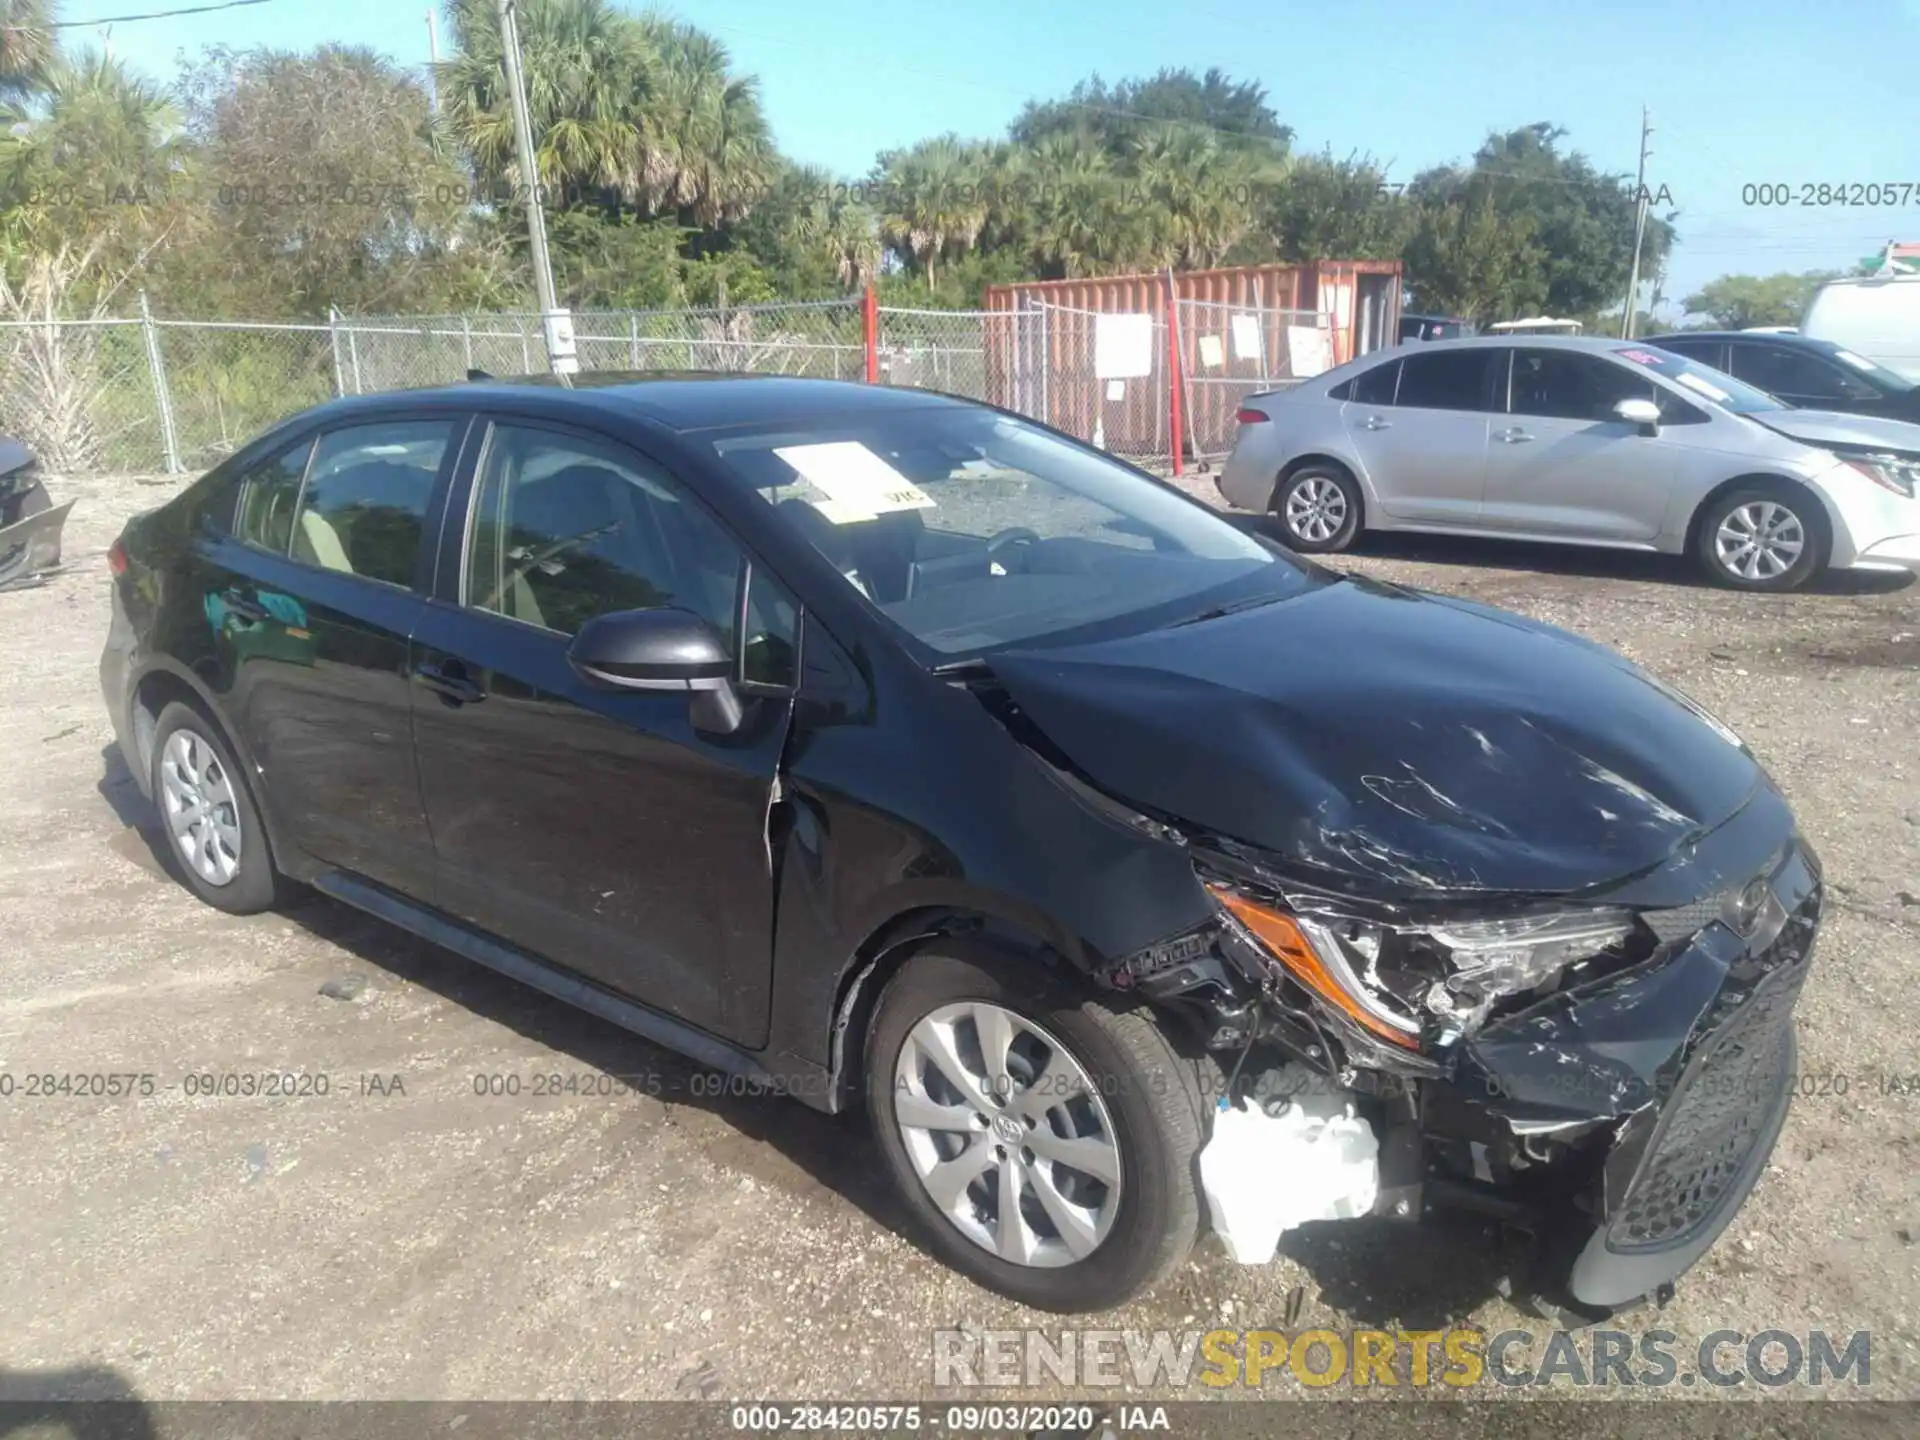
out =
<path fill-rule="evenodd" d="M 1480 515 L 1486 432 L 1494 419 L 1500 348 L 1442 346 L 1407 355 L 1398 386 L 1369 371 L 1342 407 L 1346 434 L 1367 470 L 1375 499 L 1405 524 L 1473 526 Z M 1373 382 L 1361 384 L 1361 382 Z M 1503 376 L 1500 376 L 1503 382 Z"/>

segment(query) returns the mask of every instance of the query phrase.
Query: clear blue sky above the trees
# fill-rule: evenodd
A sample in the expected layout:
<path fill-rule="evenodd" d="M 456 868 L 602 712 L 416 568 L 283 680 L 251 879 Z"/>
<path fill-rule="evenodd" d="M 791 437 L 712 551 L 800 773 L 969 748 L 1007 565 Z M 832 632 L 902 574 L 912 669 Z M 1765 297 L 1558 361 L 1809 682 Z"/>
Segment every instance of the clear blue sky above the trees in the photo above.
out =
<path fill-rule="evenodd" d="M 188 4 L 190 0 L 167 0 Z M 67 0 L 84 21 L 165 4 Z M 632 8 L 639 8 L 634 4 Z M 156 77 L 204 44 L 369 44 L 426 63 L 426 0 L 271 0 L 115 27 Z M 1667 294 L 1728 271 L 1851 265 L 1920 240 L 1920 0 L 705 0 L 668 6 L 760 77 L 789 154 L 858 175 L 924 134 L 993 136 L 1029 98 L 1162 65 L 1267 86 L 1296 148 L 1365 152 L 1390 177 L 1463 157 L 1490 129 L 1549 119 L 1605 169 L 1632 171 L 1653 111 L 1649 184 L 1680 209 Z M 98 38 L 81 29 L 75 40 Z M 1901 182 L 1905 207 L 1741 204 L 1757 182 Z M 1795 194 L 1797 200 L 1797 194 Z"/>

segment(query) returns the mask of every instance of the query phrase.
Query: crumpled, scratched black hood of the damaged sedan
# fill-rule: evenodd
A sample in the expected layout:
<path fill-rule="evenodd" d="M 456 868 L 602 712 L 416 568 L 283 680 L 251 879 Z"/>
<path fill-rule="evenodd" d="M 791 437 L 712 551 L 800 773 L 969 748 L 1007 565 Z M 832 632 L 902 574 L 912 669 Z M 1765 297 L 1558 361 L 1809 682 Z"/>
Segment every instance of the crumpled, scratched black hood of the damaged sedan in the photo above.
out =
<path fill-rule="evenodd" d="M 1394 891 L 1599 885 L 1763 781 L 1611 651 L 1373 582 L 991 666 L 1108 793 Z"/>

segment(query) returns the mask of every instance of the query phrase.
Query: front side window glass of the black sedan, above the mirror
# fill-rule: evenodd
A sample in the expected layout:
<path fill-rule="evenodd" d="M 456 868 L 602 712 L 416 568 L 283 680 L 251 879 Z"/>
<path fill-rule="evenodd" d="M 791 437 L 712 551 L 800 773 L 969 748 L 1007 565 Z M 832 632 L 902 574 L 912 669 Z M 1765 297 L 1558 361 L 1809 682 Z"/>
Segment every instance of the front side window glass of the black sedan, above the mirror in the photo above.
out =
<path fill-rule="evenodd" d="M 749 682 L 793 684 L 799 605 L 680 484 L 603 440 L 497 424 L 480 470 L 467 605 L 578 634 L 597 614 L 676 607 L 718 630 Z"/>

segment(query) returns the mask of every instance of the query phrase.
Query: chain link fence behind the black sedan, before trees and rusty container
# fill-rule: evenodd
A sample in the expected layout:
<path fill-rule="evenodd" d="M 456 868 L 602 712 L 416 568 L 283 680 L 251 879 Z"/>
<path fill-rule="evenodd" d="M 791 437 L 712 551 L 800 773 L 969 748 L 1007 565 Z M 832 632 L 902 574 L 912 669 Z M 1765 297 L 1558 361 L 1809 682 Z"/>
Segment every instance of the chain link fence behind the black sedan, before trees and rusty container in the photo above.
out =
<path fill-rule="evenodd" d="M 572 319 L 582 371 L 864 380 L 872 365 L 879 384 L 1002 405 L 1131 459 L 1165 459 L 1173 447 L 1175 369 L 1158 317 L 1135 317 L 1146 351 L 1135 351 L 1140 372 L 1127 378 L 1100 372 L 1098 336 L 1114 317 L 1041 301 L 927 311 L 831 300 Z M 1325 330 L 1325 317 L 1302 311 L 1227 313 L 1198 301 L 1183 301 L 1179 319 L 1194 455 L 1225 451 L 1242 396 L 1300 372 L 1294 330 Z M 1260 336 L 1252 349 L 1235 344 L 1248 324 Z M 204 470 L 328 397 L 457 384 L 470 371 L 545 371 L 540 315 L 13 321 L 0 324 L 0 432 L 54 472 Z"/>

